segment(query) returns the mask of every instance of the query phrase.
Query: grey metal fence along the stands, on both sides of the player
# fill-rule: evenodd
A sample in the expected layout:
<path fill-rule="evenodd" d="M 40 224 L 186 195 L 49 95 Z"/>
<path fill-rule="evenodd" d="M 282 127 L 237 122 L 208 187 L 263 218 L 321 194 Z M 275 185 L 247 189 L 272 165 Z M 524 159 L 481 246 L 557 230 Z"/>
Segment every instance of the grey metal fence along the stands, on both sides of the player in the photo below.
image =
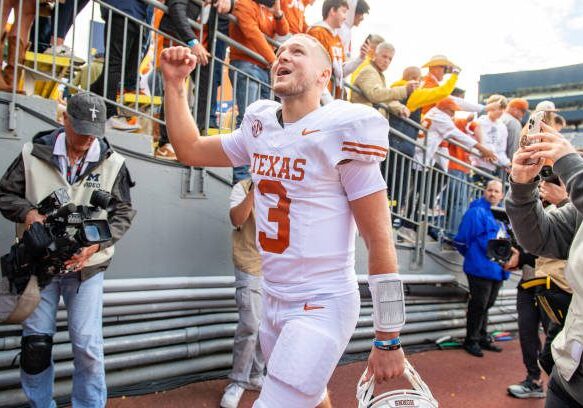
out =
<path fill-rule="evenodd" d="M 0 0 L 0 6 L 4 1 Z M 142 1 L 152 10 L 161 10 L 164 13 L 168 11 L 164 4 L 156 0 Z M 200 0 L 191 1 L 203 6 Z M 23 24 L 26 24 L 24 20 L 27 20 L 23 18 L 23 9 L 30 7 L 30 4 L 27 0 L 20 0 L 18 3 L 18 13 L 13 24 L 18 33 L 22 32 L 21 28 Z M 71 3 L 68 4 L 70 7 Z M 151 22 L 132 17 L 102 0 L 89 2 L 74 0 L 73 8 L 69 11 L 76 16 L 83 6 L 90 7 L 92 24 L 80 24 L 75 18 L 70 20 L 69 43 L 74 52 L 75 44 L 80 41 L 79 38 L 86 38 L 88 42 L 86 55 L 82 57 L 60 55 L 55 47 L 52 47 L 49 53 L 41 53 L 40 39 L 43 27 L 46 29 L 47 24 L 51 25 L 50 31 L 53 33 L 51 42 L 57 44 L 57 34 L 63 32 L 60 25 L 63 21 L 59 22 L 59 11 L 65 6 L 58 1 L 55 2 L 53 19 L 47 23 L 41 19 L 40 1 L 35 0 L 34 27 L 30 35 L 32 46 L 30 51 L 26 51 L 20 47 L 20 41 L 16 42 L 15 66 L 26 73 L 28 82 L 34 85 L 34 92 L 37 94 L 58 99 L 61 93 L 68 95 L 81 90 L 91 90 L 105 98 L 110 112 L 108 116 L 115 114 L 138 117 L 142 124 L 156 124 L 157 126 L 151 126 L 152 133 L 156 133 L 153 129 L 158 127 L 160 137 L 163 137 L 165 132 L 163 84 L 157 72 L 158 50 L 160 47 L 176 44 L 186 46 L 186 44 L 162 32 Z M 96 32 L 97 25 L 93 24 L 93 21 L 99 20 L 98 16 L 101 16 L 104 21 L 103 53 L 96 53 L 92 49 L 94 40 L 99 37 L 99 33 Z M 227 18 L 236 23 L 233 16 L 229 15 Z M 189 81 L 189 87 L 192 90 L 190 98 L 192 115 L 203 134 L 217 133 L 221 131 L 221 128 L 225 129 L 225 132 L 230 132 L 240 123 L 247 105 L 259 98 L 273 99 L 273 91 L 266 70 L 264 70 L 266 77 L 263 80 L 257 79 L 256 74 L 237 61 L 227 62 L 226 48 L 236 48 L 260 64 L 267 65 L 267 61 L 252 50 L 233 41 L 228 33 L 221 32 L 217 13 L 210 14 L 208 21 L 203 24 L 204 27 L 192 20 L 189 20 L 189 23 L 201 42 L 205 32 L 204 27 L 206 27 L 205 41 L 210 52 L 208 65 L 199 65 Z M 277 45 L 273 39 L 269 41 Z M 131 46 L 130 43 L 132 43 Z M 19 58 L 19 55 L 24 55 L 24 57 Z M 142 95 L 140 84 L 144 81 L 140 65 L 143 64 L 144 59 L 148 58 L 150 60 L 149 80 L 146 81 L 148 95 Z M 231 83 L 232 98 L 227 98 L 226 95 L 227 84 L 223 83 L 225 76 L 228 76 Z M 34 82 L 39 80 L 42 80 L 44 84 L 39 86 Z M 12 84 L 13 101 L 16 100 L 15 94 L 20 89 L 21 82 L 19 76 L 15 75 Z M 346 87 L 350 87 L 352 92 L 360 92 L 359 89 L 348 84 Z M 29 91 L 32 90 L 29 86 Z M 224 102 L 227 99 L 232 101 L 228 111 L 224 108 Z M 12 103 L 9 109 L 11 119 L 14 117 L 14 109 L 15 104 Z M 386 111 L 388 112 L 388 109 Z M 408 119 L 405 121 L 422 133 L 427 131 L 416 122 Z M 9 126 L 12 128 L 14 128 L 14 123 L 13 119 L 9 120 Z M 452 236 L 457 230 L 468 203 L 481 194 L 482 187 L 472 183 L 467 175 L 451 174 L 448 169 L 428 165 L 427 138 L 412 140 L 393 128 L 390 130 L 390 138 L 410 143 L 422 153 L 422 160 L 419 160 L 412 154 L 391 146 L 389 158 L 383 164 L 393 218 L 397 220 L 396 224 L 403 226 L 400 232 L 409 232 L 409 234 L 401 235 L 408 239 L 414 248 L 412 266 L 422 267 L 427 233 L 429 232 L 430 236 L 435 238 L 439 238 L 442 234 Z M 455 141 L 450 141 L 450 143 L 458 144 Z M 472 152 L 472 154 L 479 153 Z M 448 154 L 438 152 L 437 155 L 460 164 L 468 169 L 468 172 L 478 174 L 486 180 L 495 178 Z"/>

